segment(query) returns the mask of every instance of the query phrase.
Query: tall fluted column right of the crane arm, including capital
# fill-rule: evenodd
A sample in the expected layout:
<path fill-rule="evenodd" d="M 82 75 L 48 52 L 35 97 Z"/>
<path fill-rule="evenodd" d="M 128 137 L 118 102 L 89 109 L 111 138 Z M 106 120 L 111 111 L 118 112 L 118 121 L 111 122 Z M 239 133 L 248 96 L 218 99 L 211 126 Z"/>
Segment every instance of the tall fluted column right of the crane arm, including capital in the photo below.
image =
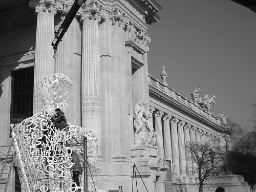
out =
<path fill-rule="evenodd" d="M 105 18 L 96 3 L 84 5 L 77 13 L 82 25 L 82 127 L 94 131 L 101 155 L 101 96 L 99 22 Z M 99 159 L 100 160 L 100 159 Z"/>

